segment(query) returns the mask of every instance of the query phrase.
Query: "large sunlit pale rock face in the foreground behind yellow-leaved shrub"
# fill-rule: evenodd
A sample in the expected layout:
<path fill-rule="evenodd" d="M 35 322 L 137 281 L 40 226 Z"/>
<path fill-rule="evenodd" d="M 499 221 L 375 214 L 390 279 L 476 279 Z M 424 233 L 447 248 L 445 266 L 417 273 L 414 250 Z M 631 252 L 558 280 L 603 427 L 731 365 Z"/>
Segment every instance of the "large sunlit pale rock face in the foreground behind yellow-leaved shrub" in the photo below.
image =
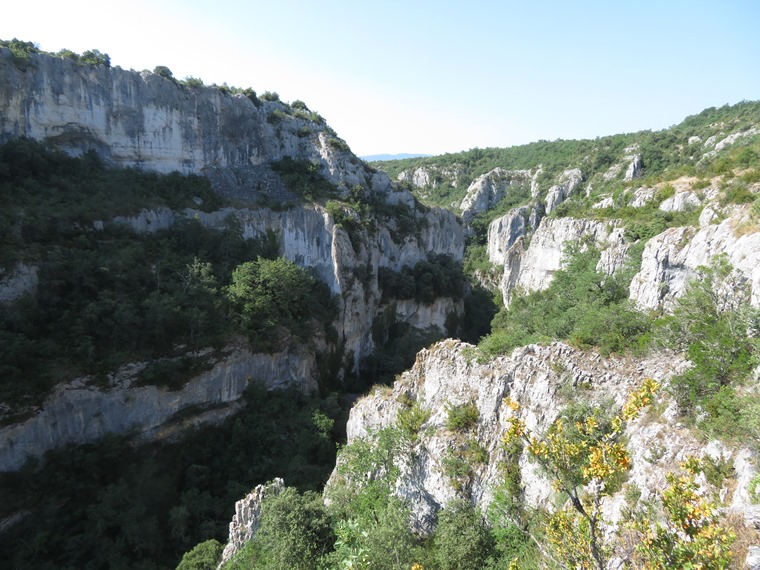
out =
<path fill-rule="evenodd" d="M 620 406 L 644 378 L 667 382 L 685 366 L 684 361 L 672 354 L 644 360 L 602 359 L 562 343 L 526 346 L 516 349 L 511 356 L 484 364 L 468 356 L 468 350 L 472 347 L 451 340 L 423 350 L 414 367 L 396 381 L 392 392 L 377 391 L 360 400 L 348 421 L 351 443 L 393 425 L 409 401 L 429 411 L 418 441 L 401 461 L 395 486 L 396 494 L 411 502 L 414 523 L 421 531 L 429 531 L 435 513 L 454 498 L 463 496 L 483 510 L 493 500 L 503 477 L 501 437 L 513 414 L 504 402 L 506 396 L 520 403 L 519 413 L 529 429 L 544 433 L 561 409 L 576 398 L 597 405 L 611 400 Z M 476 424 L 466 433 L 447 429 L 447 408 L 467 403 L 477 407 Z M 662 401 L 658 408 L 664 409 L 666 405 L 667 401 Z M 704 445 L 686 429 L 674 425 L 667 411 L 662 416 L 650 412 L 631 422 L 626 435 L 632 459 L 627 485 L 635 485 L 642 500 L 652 498 L 665 487 L 665 474 L 678 461 L 691 455 L 709 455 L 736 469 L 737 488 L 721 490 L 725 503 L 737 511 L 751 510 L 746 484 L 756 473 L 756 467 L 750 461 L 750 451 L 731 449 L 718 442 Z M 468 475 L 455 484 L 446 473 L 445 459 L 452 453 L 460 454 L 462 442 L 468 437 L 477 438 L 488 459 L 471 462 Z M 553 508 L 554 491 L 549 481 L 525 454 L 519 460 L 519 470 L 526 504 Z M 334 472 L 328 489 L 339 478 Z M 621 491 L 606 500 L 607 520 L 619 520 L 625 506 L 623 495 Z"/>

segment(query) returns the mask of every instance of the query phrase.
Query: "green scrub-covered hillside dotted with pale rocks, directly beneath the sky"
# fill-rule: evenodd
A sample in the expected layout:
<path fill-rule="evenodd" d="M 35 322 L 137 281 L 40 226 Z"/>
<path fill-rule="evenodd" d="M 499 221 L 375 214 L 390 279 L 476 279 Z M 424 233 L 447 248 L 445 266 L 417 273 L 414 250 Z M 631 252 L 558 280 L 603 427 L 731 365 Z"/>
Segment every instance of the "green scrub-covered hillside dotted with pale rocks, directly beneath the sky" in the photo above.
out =
<path fill-rule="evenodd" d="M 638 186 L 684 175 L 707 176 L 754 162 L 760 156 L 757 135 L 744 139 L 731 153 L 714 156 L 706 156 L 709 147 L 704 147 L 704 144 L 721 132 L 742 133 L 758 123 L 760 102 L 744 101 L 705 109 L 662 131 L 618 134 L 593 140 L 538 141 L 509 148 L 474 148 L 461 153 L 383 161 L 373 165 L 386 171 L 391 178 L 396 178 L 403 171 L 420 167 L 429 169 L 434 175 L 433 185 L 413 190 L 422 200 L 443 207 L 458 205 L 476 177 L 497 167 L 533 172 L 540 169 L 538 184 L 542 194 L 556 184 L 562 171 L 579 168 L 584 179 L 594 187 L 594 192 L 588 197 L 593 199 L 603 193 L 619 196 L 632 188 L 632 183 L 621 181 L 622 175 L 605 180 L 604 174 L 616 165 L 624 165 L 624 157 L 633 153 L 641 155 L 644 165 L 636 182 Z M 584 198 L 579 196 L 575 199 L 586 203 Z M 513 200 L 514 196 L 508 194 L 505 199 Z M 584 208 L 586 213 L 590 213 L 588 206 L 591 203 Z M 497 205 L 487 213 L 487 218 L 493 219 L 499 213 L 503 213 L 503 208 Z"/>

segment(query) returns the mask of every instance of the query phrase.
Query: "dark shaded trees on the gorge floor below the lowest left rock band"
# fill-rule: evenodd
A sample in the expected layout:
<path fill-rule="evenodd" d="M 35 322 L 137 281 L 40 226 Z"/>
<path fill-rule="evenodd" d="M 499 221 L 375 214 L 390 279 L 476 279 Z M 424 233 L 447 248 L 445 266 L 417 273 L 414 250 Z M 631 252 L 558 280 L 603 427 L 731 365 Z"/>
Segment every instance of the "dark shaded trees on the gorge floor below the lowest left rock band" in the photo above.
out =
<path fill-rule="evenodd" d="M 218 427 L 174 443 L 126 437 L 50 452 L 0 475 L 3 568 L 174 568 L 199 542 L 225 542 L 235 501 L 274 477 L 318 490 L 335 465 L 346 410 L 251 386 L 247 405 Z"/>

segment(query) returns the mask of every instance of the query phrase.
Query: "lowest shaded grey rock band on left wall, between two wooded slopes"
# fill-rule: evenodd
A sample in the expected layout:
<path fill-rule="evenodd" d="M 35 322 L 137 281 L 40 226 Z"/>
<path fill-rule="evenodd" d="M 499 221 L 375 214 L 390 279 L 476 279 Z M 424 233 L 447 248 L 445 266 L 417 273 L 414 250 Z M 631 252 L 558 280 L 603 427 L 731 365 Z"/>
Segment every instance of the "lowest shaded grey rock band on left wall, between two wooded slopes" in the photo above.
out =
<path fill-rule="evenodd" d="M 238 348 L 207 363 L 209 370 L 179 390 L 141 386 L 139 376 L 149 362 L 124 366 L 109 375 L 106 387 L 90 378 L 58 385 L 32 417 L 0 428 L 0 471 L 16 470 L 28 458 L 109 433 L 160 439 L 178 428 L 218 423 L 239 409 L 237 402 L 251 382 L 268 389 L 317 388 L 311 353 L 252 354 Z M 188 409 L 193 413 L 181 413 Z"/>

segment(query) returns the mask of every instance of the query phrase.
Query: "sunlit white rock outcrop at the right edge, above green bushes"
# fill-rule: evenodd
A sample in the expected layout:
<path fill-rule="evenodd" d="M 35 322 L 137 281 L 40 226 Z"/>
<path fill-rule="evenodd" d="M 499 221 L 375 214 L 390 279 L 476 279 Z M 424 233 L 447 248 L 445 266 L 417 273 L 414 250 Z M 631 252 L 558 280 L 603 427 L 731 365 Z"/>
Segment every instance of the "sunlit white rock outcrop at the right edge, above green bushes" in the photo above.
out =
<path fill-rule="evenodd" d="M 630 298 L 641 309 L 671 309 L 696 277 L 696 268 L 726 254 L 749 286 L 753 306 L 760 306 L 760 232 L 737 235 L 736 231 L 749 222 L 747 215 L 739 209 L 720 224 L 699 230 L 670 228 L 653 237 L 644 248 L 641 270 L 631 281 Z"/>

